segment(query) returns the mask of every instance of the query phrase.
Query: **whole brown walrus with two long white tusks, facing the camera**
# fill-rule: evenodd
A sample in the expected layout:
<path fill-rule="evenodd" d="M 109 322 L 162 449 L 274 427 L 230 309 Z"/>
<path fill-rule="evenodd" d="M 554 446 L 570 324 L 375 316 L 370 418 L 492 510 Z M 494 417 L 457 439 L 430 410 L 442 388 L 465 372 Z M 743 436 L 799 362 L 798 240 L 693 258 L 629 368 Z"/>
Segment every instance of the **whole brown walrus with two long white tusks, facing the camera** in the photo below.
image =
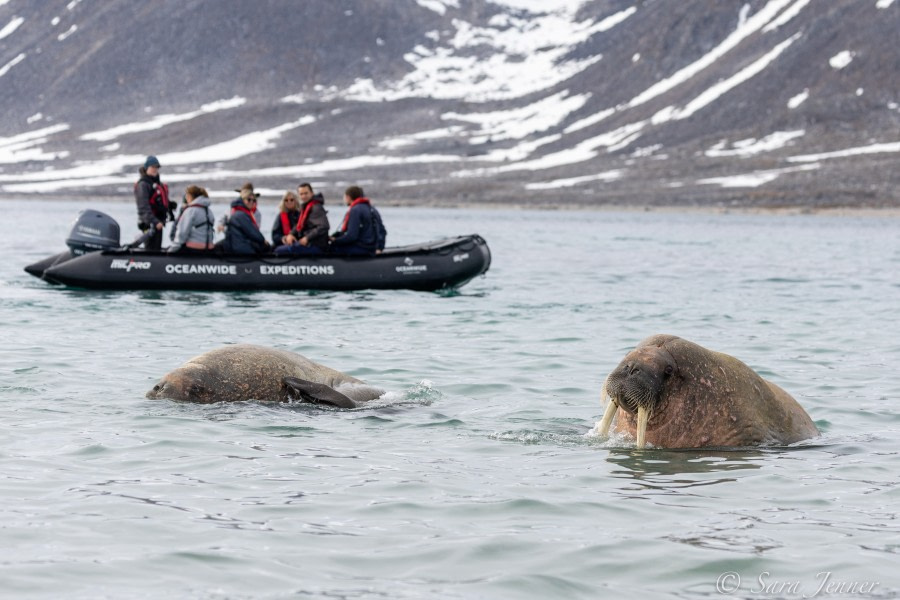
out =
<path fill-rule="evenodd" d="M 596 431 L 631 434 L 638 448 L 787 445 L 819 435 L 786 391 L 727 354 L 654 335 L 609 374 L 610 402 Z M 621 410 L 619 410 L 621 409 Z"/>

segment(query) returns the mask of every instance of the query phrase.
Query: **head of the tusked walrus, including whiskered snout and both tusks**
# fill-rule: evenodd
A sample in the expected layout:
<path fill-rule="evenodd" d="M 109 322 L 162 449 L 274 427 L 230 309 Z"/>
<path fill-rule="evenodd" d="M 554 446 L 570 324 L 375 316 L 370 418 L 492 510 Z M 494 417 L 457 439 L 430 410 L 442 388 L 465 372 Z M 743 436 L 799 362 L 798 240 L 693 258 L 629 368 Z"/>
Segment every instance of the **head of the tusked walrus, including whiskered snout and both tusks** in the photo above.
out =
<path fill-rule="evenodd" d="M 647 423 L 659 406 L 669 379 L 678 370 L 675 359 L 663 347 L 640 346 L 629 352 L 603 383 L 601 400 L 610 402 L 598 427 L 601 435 L 609 427 L 618 409 L 637 415 L 637 447 L 646 445 Z"/>

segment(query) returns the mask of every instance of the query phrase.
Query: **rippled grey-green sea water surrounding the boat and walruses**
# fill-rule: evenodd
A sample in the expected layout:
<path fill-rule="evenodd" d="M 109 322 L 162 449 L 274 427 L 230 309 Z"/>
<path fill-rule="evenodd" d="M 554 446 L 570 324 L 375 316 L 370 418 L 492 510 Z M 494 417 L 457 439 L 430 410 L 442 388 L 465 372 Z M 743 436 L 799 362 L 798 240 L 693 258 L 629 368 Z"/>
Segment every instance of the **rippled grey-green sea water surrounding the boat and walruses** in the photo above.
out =
<path fill-rule="evenodd" d="M 484 236 L 490 271 L 453 293 L 24 273 L 88 207 L 137 233 L 130 202 L 0 202 L 2 597 L 900 596 L 898 218 L 383 208 L 389 245 Z M 822 436 L 589 435 L 604 377 L 656 333 L 740 358 Z M 389 393 L 350 411 L 144 398 L 239 342 Z"/>

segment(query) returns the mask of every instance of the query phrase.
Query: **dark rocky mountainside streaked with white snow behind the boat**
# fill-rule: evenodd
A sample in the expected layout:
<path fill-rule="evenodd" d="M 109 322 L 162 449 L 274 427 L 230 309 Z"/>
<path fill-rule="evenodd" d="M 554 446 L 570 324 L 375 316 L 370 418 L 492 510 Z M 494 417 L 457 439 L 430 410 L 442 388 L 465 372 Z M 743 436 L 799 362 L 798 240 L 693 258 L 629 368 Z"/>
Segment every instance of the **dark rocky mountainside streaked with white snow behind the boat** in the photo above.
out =
<path fill-rule="evenodd" d="M 900 206 L 894 0 L 0 0 L 0 189 Z"/>

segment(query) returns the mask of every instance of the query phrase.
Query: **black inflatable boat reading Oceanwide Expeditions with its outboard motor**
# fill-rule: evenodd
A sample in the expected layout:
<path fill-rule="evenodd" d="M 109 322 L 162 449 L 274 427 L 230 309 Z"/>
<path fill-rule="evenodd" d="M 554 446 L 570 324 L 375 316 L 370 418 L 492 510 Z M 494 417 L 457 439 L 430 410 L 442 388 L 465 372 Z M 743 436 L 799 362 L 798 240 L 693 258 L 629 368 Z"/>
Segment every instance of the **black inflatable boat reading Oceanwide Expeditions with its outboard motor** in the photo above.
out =
<path fill-rule="evenodd" d="M 101 290 L 436 291 L 464 285 L 491 264 L 479 235 L 385 248 L 376 256 L 167 254 L 119 245 L 115 221 L 82 211 L 69 250 L 25 267 L 49 283 Z"/>

